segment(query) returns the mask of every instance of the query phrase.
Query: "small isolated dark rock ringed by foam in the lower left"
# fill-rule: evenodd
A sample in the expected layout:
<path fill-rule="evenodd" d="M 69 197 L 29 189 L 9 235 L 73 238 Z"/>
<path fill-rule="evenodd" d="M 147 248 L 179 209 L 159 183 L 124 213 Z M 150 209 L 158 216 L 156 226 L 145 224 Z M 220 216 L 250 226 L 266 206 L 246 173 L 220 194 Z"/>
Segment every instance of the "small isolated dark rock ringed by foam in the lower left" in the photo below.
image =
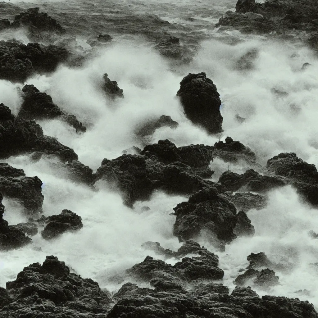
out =
<path fill-rule="evenodd" d="M 83 227 L 82 218 L 70 210 L 63 210 L 58 215 L 51 215 L 37 220 L 45 224 L 41 235 L 44 239 L 55 239 L 65 232 L 75 232 Z"/>

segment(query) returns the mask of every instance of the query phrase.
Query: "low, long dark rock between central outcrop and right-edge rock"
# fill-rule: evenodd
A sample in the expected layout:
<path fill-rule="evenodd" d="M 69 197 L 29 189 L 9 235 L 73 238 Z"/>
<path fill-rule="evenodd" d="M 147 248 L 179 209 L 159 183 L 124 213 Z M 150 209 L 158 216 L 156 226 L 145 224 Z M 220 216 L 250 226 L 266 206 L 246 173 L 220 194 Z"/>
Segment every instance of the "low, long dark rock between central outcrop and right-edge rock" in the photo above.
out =
<path fill-rule="evenodd" d="M 280 177 L 262 176 L 253 169 L 248 169 L 241 175 L 230 170 L 225 171 L 218 182 L 223 184 L 229 191 L 241 189 L 242 191 L 266 192 L 286 185 L 286 182 Z"/>

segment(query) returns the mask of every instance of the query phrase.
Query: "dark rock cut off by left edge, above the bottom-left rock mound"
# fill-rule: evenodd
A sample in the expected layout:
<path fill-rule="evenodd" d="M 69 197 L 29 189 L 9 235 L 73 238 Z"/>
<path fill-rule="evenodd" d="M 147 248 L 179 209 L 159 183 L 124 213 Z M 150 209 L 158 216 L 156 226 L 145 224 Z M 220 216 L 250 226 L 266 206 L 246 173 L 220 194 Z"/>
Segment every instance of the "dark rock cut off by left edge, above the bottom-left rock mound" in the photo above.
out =
<path fill-rule="evenodd" d="M 25 236 L 22 229 L 15 225 L 9 225 L 6 220 L 3 220 L 4 205 L 2 204 L 3 195 L 0 192 L 0 250 L 7 251 L 28 245 L 32 240 Z M 0 304 L 2 295 L 0 290 Z"/>

